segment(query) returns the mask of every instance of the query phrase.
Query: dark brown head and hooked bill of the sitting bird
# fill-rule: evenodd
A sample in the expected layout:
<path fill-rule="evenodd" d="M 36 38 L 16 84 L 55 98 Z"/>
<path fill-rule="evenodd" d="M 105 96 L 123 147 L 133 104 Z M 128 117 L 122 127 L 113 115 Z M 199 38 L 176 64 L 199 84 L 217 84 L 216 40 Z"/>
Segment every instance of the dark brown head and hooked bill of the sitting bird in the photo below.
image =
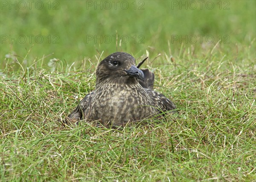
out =
<path fill-rule="evenodd" d="M 96 82 L 105 79 L 135 81 L 137 78 L 144 79 L 143 71 L 136 67 L 135 58 L 125 52 L 110 54 L 96 68 Z"/>

